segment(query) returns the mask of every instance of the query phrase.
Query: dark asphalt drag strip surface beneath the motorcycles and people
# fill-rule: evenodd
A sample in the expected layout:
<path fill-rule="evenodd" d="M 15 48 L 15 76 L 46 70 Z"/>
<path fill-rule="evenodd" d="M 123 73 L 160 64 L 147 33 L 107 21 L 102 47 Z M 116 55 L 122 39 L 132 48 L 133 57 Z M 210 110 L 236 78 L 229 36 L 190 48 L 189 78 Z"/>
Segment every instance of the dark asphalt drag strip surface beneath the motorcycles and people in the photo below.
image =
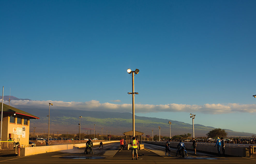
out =
<path fill-rule="evenodd" d="M 188 157 L 176 157 L 176 150 L 171 150 L 171 156 L 165 156 L 165 148 L 163 146 L 145 144 L 144 150 L 139 150 L 139 158 L 141 160 L 132 160 L 131 150 L 120 150 L 119 143 L 110 143 L 103 145 L 104 149 L 98 149 L 99 147 L 93 147 L 94 154 L 84 154 L 84 148 L 74 148 L 65 151 L 56 151 L 51 153 L 37 154 L 26 157 L 1 157 L 0 163 L 254 163 L 255 158 L 245 157 L 218 157 L 215 155 L 204 154 L 197 152 L 193 154 L 193 151 L 188 151 Z"/>

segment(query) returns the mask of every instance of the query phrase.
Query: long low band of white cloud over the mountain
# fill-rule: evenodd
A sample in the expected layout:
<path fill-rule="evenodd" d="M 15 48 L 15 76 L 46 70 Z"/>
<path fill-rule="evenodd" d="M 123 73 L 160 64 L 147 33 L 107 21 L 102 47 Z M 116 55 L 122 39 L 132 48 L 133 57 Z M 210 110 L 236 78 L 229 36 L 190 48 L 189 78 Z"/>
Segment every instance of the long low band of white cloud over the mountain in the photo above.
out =
<path fill-rule="evenodd" d="M 8 104 L 8 101 L 4 101 Z M 112 104 L 100 103 L 96 100 L 87 102 L 64 102 L 64 101 L 28 101 L 28 100 L 12 100 L 11 106 L 18 109 L 36 108 L 47 109 L 48 103 L 53 103 L 51 109 L 68 109 L 68 110 L 84 110 L 84 111 L 109 111 L 109 112 L 131 112 L 132 104 Z M 187 104 L 135 104 L 136 113 L 148 112 L 198 112 L 208 114 L 221 113 L 256 113 L 256 104 L 204 104 L 204 105 L 187 105 Z"/>

